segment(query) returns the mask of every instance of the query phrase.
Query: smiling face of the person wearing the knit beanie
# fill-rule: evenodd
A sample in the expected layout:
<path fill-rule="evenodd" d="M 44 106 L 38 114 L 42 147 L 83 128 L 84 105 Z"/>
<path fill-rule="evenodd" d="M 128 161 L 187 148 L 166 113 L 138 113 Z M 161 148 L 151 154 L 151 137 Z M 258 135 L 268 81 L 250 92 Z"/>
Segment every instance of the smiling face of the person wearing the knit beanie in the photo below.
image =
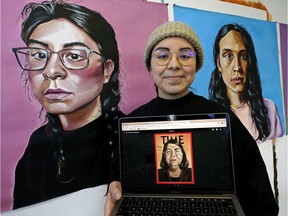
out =
<path fill-rule="evenodd" d="M 159 65 L 155 62 L 153 53 L 163 49 L 171 53 L 171 59 L 167 65 Z M 151 75 L 158 87 L 158 94 L 165 99 L 177 99 L 189 92 L 196 72 L 196 58 L 191 58 L 189 65 L 182 65 L 179 61 L 179 51 L 193 50 L 193 46 L 183 38 L 171 37 L 160 41 L 152 51 Z"/>

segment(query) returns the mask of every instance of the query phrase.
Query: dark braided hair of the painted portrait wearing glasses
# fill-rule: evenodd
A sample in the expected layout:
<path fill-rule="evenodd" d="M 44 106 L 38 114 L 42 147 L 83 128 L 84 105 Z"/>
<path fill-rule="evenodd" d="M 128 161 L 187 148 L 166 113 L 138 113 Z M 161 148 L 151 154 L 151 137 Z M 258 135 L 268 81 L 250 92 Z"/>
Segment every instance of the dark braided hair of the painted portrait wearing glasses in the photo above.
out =
<path fill-rule="evenodd" d="M 65 2 L 63 0 L 28 3 L 22 10 L 21 38 L 27 44 L 28 39 L 37 26 L 54 19 L 64 18 L 83 29 L 99 46 L 104 61 L 114 62 L 114 71 L 108 83 L 104 84 L 100 93 L 101 111 L 107 122 L 107 129 L 112 135 L 116 133 L 117 118 L 119 117 L 119 51 L 113 27 L 97 11 L 84 6 Z M 104 70 L 104 66 L 102 64 Z M 104 71 L 103 71 L 104 72 Z M 43 108 L 42 108 L 43 109 Z M 49 115 L 49 114 L 48 114 Z M 54 115 L 49 116 L 48 119 Z M 51 121 L 49 121 L 51 123 Z M 114 137 L 114 136 L 112 136 Z M 110 141 L 109 141 L 110 142 Z"/>

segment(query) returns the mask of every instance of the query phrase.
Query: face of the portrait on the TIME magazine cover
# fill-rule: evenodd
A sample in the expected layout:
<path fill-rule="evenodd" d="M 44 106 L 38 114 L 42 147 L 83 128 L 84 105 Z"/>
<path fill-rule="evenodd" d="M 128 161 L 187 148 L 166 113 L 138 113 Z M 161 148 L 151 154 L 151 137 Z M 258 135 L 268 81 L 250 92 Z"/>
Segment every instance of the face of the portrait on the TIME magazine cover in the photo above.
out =
<path fill-rule="evenodd" d="M 170 169 L 176 170 L 182 162 L 183 152 L 178 145 L 168 144 L 165 151 L 165 158 Z"/>

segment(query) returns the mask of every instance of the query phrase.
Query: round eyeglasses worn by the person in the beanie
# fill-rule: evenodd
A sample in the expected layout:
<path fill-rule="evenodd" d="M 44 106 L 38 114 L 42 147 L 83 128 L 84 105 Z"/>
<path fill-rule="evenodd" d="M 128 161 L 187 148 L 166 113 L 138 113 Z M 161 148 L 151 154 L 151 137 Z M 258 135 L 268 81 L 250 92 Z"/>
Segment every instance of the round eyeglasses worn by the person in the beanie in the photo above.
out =
<path fill-rule="evenodd" d="M 165 66 L 170 62 L 172 54 L 173 53 L 167 49 L 157 49 L 153 52 L 152 56 L 157 65 Z M 176 56 L 181 65 L 189 66 L 196 57 L 196 54 L 197 53 L 192 49 L 183 49 L 180 50 Z"/>

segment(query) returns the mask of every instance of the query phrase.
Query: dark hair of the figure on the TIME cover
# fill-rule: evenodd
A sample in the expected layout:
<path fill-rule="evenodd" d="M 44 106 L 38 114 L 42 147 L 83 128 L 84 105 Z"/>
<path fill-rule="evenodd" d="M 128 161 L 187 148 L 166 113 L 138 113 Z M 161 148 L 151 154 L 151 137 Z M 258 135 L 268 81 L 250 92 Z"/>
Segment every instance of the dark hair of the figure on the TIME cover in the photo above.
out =
<path fill-rule="evenodd" d="M 182 161 L 181 161 L 181 164 L 179 165 L 179 167 L 180 167 L 181 170 L 187 169 L 188 166 L 189 166 L 189 161 L 187 160 L 186 152 L 184 151 L 184 148 L 183 148 L 182 144 L 179 143 L 176 139 L 173 139 L 173 138 L 167 140 L 167 142 L 164 143 L 164 147 L 163 147 L 163 151 L 162 151 L 162 159 L 161 159 L 161 162 L 160 162 L 160 167 L 162 169 L 164 169 L 164 170 L 168 170 L 169 169 L 169 165 L 166 162 L 166 156 L 165 156 L 165 152 L 166 152 L 167 146 L 169 144 L 177 145 L 181 149 L 182 154 L 183 154 L 183 158 L 182 158 Z"/>

